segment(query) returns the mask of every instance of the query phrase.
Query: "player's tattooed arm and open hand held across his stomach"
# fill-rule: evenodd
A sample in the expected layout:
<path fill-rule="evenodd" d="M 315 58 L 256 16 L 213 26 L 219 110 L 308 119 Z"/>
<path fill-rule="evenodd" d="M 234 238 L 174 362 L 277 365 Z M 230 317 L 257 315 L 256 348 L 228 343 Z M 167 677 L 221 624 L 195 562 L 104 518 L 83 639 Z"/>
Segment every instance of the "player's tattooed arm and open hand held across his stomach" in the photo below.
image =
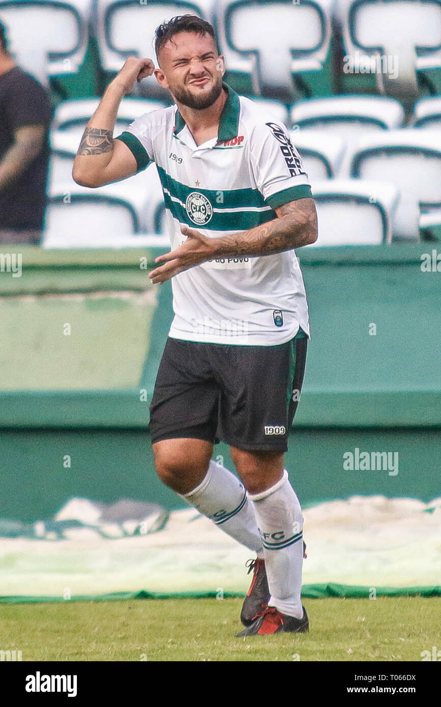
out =
<path fill-rule="evenodd" d="M 238 255 L 271 255 L 309 245 L 317 240 L 317 215 L 314 199 L 297 199 L 275 208 L 277 218 L 250 228 L 243 233 L 207 238 L 194 228 L 181 226 L 187 236 L 183 245 L 155 262 L 164 263 L 152 270 L 149 277 L 154 284 L 165 282 L 184 270 L 213 258 Z"/>

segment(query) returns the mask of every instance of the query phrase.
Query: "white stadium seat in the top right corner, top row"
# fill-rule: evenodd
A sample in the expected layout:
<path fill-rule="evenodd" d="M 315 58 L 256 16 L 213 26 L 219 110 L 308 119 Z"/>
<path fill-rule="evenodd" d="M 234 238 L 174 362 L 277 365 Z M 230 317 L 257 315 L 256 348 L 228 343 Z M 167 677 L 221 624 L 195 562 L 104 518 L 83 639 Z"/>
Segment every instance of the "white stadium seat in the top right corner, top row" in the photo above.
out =
<path fill-rule="evenodd" d="M 418 95 L 417 72 L 441 67 L 440 0 L 336 0 L 336 15 L 342 70 L 375 74 L 381 93 Z"/>

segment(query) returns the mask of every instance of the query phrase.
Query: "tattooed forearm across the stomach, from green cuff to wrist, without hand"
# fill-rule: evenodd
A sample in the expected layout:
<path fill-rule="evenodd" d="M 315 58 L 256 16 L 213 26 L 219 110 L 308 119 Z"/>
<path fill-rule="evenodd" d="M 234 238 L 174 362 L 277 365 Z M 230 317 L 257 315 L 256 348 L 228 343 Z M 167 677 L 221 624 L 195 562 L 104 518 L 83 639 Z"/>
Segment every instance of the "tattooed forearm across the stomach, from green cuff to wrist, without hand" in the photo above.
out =
<path fill-rule="evenodd" d="M 314 243 L 317 229 L 314 199 L 290 201 L 275 211 L 279 218 L 273 221 L 220 238 L 219 255 L 270 255 Z"/>

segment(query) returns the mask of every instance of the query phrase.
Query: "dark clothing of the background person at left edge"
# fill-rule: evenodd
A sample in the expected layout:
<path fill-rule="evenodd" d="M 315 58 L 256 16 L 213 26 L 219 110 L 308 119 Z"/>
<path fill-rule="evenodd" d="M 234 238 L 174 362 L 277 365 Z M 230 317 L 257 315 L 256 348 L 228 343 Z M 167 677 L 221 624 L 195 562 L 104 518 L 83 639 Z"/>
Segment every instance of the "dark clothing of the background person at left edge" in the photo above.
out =
<path fill-rule="evenodd" d="M 46 206 L 49 127 L 52 106 L 45 88 L 14 66 L 0 74 L 0 162 L 14 143 L 14 132 L 44 125 L 42 148 L 15 179 L 0 186 L 0 242 L 40 243 Z"/>

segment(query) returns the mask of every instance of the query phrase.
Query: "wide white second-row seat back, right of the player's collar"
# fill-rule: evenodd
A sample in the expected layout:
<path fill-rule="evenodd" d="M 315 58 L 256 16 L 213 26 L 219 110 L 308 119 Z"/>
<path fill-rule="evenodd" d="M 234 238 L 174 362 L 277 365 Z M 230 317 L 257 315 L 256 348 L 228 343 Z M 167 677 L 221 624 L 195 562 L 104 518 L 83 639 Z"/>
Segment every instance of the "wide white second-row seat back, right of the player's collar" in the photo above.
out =
<path fill-rule="evenodd" d="M 367 130 L 392 130 L 402 126 L 404 110 L 394 98 L 370 95 L 337 95 L 310 98 L 292 105 L 292 125 L 302 130 L 333 132 L 346 139 Z"/>

